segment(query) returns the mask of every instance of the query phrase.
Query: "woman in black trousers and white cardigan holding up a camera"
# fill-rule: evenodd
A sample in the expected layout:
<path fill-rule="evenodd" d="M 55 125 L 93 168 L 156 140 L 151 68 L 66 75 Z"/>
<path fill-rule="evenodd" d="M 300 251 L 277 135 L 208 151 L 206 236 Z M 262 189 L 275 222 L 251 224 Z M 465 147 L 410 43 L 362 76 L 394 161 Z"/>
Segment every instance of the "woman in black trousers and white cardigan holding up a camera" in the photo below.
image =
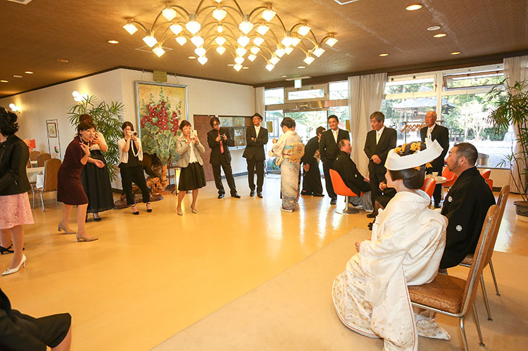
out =
<path fill-rule="evenodd" d="M 119 147 L 119 168 L 121 170 L 122 190 L 127 196 L 127 205 L 132 206 L 132 214 L 139 215 L 134 193 L 132 193 L 132 181 L 142 191 L 143 202 L 146 205 L 146 212 L 152 212 L 149 188 L 146 186 L 145 173 L 141 165 L 143 160 L 142 141 L 134 132 L 134 125 L 130 122 L 122 124 L 123 138 L 118 141 Z"/>

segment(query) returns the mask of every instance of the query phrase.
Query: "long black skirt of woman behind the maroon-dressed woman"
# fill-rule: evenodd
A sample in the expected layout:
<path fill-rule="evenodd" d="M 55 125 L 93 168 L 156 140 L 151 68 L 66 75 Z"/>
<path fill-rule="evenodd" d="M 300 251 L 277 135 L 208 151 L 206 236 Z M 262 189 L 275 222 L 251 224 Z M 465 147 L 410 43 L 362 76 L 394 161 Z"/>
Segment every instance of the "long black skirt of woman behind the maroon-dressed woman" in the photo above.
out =
<path fill-rule="evenodd" d="M 88 197 L 87 212 L 94 213 L 111 210 L 113 208 L 112 186 L 103 153 L 99 150 L 92 150 L 90 157 L 103 161 L 105 166 L 99 168 L 92 162 L 87 162 L 82 169 L 82 187 Z"/>

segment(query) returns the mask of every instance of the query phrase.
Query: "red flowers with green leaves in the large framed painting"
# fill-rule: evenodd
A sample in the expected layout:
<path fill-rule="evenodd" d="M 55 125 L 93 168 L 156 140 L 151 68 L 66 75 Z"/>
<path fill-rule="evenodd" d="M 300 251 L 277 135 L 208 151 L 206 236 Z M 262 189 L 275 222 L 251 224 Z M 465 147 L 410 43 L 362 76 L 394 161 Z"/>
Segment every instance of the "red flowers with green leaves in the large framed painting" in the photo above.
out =
<path fill-rule="evenodd" d="M 177 161 L 178 155 L 175 148 L 175 139 L 181 134 L 180 115 L 182 101 L 172 108 L 168 98 L 160 89 L 158 101 L 150 94 L 149 101 L 142 99 L 140 106 L 140 119 L 143 151 L 156 154 L 164 164 Z M 180 133 L 180 134 L 179 134 Z"/>

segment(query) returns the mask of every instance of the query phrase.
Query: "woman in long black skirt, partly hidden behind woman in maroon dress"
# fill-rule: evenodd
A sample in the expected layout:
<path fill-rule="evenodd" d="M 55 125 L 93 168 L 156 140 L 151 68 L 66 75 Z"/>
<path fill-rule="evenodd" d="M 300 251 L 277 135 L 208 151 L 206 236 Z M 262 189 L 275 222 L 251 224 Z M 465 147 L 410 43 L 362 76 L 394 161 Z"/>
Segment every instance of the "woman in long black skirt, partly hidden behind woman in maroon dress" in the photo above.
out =
<path fill-rule="evenodd" d="M 79 122 L 94 122 L 91 115 L 81 115 Z M 108 146 L 101 132 L 95 132 L 94 139 L 90 141 L 90 158 L 87 164 L 82 168 L 81 181 L 84 192 L 88 197 L 87 212 L 94 215 L 96 222 L 101 221 L 99 212 L 111 210 L 113 208 L 112 186 L 110 184 L 110 174 L 103 153 L 106 153 Z M 89 160 L 101 160 L 104 167 L 97 167 L 95 163 Z"/>

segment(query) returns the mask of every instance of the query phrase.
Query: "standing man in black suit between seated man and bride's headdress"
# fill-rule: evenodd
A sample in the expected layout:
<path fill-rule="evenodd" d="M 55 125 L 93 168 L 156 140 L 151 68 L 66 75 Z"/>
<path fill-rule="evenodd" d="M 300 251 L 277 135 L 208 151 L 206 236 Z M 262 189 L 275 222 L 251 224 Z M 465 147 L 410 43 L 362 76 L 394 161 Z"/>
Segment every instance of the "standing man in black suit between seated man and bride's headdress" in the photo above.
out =
<path fill-rule="evenodd" d="M 376 198 L 381 195 L 379 182 L 385 181 L 386 155 L 392 148 L 396 148 L 396 129 L 385 127 L 383 125 L 384 122 L 385 115 L 382 112 L 376 111 L 370 115 L 370 127 L 372 127 L 372 130 L 367 133 L 365 148 L 363 149 L 369 160 L 368 173 L 372 203 L 375 203 Z M 370 213 L 367 217 L 374 218 L 375 215 Z"/>

